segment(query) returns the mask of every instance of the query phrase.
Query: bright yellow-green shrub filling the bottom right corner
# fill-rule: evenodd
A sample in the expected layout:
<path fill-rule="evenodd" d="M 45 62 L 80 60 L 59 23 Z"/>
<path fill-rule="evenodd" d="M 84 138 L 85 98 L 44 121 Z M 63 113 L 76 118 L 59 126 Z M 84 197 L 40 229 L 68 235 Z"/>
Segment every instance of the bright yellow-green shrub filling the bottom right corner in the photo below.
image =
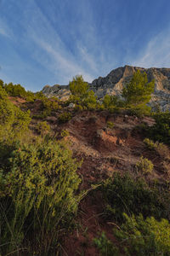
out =
<path fill-rule="evenodd" d="M 170 255 L 170 224 L 167 219 L 156 221 L 150 217 L 144 220 L 140 214 L 131 218 L 124 214 L 125 224 L 114 230 L 116 238 L 125 245 L 126 255 Z"/>

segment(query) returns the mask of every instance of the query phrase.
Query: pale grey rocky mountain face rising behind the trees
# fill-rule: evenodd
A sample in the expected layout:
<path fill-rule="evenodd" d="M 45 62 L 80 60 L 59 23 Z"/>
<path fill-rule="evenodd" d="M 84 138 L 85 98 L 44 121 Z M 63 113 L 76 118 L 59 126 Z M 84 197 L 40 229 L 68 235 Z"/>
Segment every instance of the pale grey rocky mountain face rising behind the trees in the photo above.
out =
<path fill-rule="evenodd" d="M 132 79 L 137 70 L 147 73 L 148 81 L 155 79 L 155 90 L 149 105 L 152 108 L 161 107 L 162 111 L 170 110 L 170 68 L 143 68 L 143 67 L 118 67 L 111 71 L 105 78 L 99 77 L 89 84 L 91 90 L 100 99 L 109 95 L 121 96 L 122 88 Z M 42 92 L 46 96 L 58 96 L 65 101 L 71 95 L 69 85 L 45 86 Z"/>

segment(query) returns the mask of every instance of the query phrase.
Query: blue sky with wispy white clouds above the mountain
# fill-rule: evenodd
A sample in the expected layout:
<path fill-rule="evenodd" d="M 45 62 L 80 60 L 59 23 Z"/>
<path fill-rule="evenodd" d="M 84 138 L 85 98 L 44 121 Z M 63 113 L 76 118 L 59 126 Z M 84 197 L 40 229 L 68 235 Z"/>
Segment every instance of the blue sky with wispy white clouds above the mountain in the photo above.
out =
<path fill-rule="evenodd" d="M 37 91 L 170 67 L 169 13 L 169 0 L 0 0 L 0 79 Z"/>

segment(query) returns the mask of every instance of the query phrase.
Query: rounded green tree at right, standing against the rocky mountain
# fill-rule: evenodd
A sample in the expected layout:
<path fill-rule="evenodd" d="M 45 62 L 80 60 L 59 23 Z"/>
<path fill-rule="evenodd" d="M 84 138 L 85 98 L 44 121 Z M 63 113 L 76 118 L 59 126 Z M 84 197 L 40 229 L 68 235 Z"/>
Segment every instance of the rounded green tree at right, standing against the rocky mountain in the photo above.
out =
<path fill-rule="evenodd" d="M 139 106 L 150 102 L 151 93 L 154 91 L 155 80 L 148 83 L 147 74 L 138 70 L 133 74 L 130 83 L 122 90 L 127 106 Z"/>

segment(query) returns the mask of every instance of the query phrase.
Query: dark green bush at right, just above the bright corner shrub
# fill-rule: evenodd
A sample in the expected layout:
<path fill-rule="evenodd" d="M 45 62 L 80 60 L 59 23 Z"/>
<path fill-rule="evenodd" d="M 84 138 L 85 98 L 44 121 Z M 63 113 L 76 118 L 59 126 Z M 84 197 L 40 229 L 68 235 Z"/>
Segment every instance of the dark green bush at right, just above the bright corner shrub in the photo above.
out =
<path fill-rule="evenodd" d="M 140 212 L 155 218 L 169 218 L 170 202 L 168 192 L 163 192 L 156 186 L 149 187 L 142 179 L 134 179 L 130 175 L 114 177 L 105 180 L 101 186 L 102 194 L 107 205 L 107 218 L 123 221 L 122 212 L 128 215 L 138 215 Z"/>

